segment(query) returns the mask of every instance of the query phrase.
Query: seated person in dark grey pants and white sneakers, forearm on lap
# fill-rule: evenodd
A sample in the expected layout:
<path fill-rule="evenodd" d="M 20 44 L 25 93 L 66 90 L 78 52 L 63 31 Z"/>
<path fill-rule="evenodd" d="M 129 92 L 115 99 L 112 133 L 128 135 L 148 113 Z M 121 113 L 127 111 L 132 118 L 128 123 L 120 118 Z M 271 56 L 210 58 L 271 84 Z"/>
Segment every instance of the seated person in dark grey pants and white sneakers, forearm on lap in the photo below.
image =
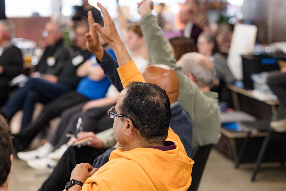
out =
<path fill-rule="evenodd" d="M 110 91 L 114 91 L 115 88 L 113 88 L 111 87 Z M 83 121 L 83 131 L 99 133 L 107 128 L 112 127 L 113 121 L 110 120 L 106 113 L 112 106 L 116 104 L 118 95 L 119 92 L 116 90 L 115 96 L 100 98 L 97 100 L 88 101 L 87 103 L 83 102 L 64 110 L 61 113 L 60 124 L 55 132 L 49 137 L 48 142 L 36 150 L 19 152 L 17 156 L 24 161 L 28 161 L 28 165 L 31 166 L 32 164 L 32 167 L 35 167 L 36 169 L 48 168 L 48 164 L 46 164 L 46 162 L 51 160 L 46 157 L 49 155 L 49 153 L 52 153 L 56 149 L 62 147 L 62 145 L 67 144 L 69 137 L 66 137 L 66 134 L 77 132 L 75 124 L 77 124 L 79 117 L 81 117 Z M 63 147 L 67 148 L 67 145 L 64 145 Z M 65 150 L 64 148 L 62 148 L 62 150 L 63 154 Z M 40 160 L 41 158 L 44 159 Z M 49 165 L 49 167 L 51 168 L 52 165 Z"/>

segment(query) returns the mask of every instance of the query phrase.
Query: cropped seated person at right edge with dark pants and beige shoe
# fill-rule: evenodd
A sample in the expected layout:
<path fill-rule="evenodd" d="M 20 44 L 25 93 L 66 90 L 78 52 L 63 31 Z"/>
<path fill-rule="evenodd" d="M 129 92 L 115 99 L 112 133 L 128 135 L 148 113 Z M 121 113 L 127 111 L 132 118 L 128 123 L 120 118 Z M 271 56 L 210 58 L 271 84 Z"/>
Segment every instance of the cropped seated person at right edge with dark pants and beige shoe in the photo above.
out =
<path fill-rule="evenodd" d="M 280 105 L 270 122 L 270 127 L 278 132 L 286 131 L 286 67 L 281 72 L 273 72 L 267 78 L 267 84 L 278 97 Z"/>

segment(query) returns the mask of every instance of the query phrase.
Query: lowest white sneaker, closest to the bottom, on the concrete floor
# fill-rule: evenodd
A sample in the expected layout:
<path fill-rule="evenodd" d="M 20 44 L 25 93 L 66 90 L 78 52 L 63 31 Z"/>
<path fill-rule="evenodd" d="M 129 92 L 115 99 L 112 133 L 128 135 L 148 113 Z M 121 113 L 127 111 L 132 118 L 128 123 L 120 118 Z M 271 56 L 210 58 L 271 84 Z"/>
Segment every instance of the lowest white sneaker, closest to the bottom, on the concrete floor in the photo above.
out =
<path fill-rule="evenodd" d="M 57 162 L 50 158 L 38 158 L 27 161 L 29 167 L 35 170 L 51 170 L 57 166 Z"/>

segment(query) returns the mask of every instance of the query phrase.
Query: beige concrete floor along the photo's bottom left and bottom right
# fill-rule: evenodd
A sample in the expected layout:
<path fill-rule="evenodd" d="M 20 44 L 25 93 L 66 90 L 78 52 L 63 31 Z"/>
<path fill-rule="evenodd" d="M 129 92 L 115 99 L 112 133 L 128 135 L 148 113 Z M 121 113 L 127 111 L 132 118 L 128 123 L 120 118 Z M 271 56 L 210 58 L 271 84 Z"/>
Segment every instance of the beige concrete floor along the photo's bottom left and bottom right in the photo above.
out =
<path fill-rule="evenodd" d="M 212 150 L 198 191 L 282 191 L 286 190 L 286 168 L 279 163 L 262 164 L 257 180 L 251 182 L 254 164 L 234 168 L 234 162 Z M 50 172 L 31 169 L 26 162 L 15 159 L 9 191 L 36 191 Z"/>

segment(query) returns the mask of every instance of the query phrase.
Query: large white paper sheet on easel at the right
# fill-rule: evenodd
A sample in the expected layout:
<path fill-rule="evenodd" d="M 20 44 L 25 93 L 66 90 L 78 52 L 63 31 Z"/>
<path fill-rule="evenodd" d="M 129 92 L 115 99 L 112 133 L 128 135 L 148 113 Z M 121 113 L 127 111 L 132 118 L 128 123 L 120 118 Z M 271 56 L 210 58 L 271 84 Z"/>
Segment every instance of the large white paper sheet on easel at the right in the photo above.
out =
<path fill-rule="evenodd" d="M 243 79 L 241 55 L 253 52 L 257 35 L 257 27 L 250 24 L 237 24 L 234 27 L 227 64 L 234 78 Z"/>

